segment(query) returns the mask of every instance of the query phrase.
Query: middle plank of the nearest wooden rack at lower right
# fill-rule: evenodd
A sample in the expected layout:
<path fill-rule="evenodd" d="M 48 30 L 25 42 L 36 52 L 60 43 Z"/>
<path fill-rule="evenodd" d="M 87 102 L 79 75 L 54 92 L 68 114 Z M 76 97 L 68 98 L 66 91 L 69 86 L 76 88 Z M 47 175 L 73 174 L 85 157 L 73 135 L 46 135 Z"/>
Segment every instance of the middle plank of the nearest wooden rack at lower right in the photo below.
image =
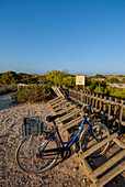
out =
<path fill-rule="evenodd" d="M 102 166 L 98 167 L 94 172 L 90 174 L 91 179 L 93 180 L 99 175 L 103 174 L 106 169 L 112 167 L 114 164 L 116 164 L 120 160 L 122 160 L 125 156 L 125 150 L 123 150 L 121 153 L 109 160 L 106 163 L 104 163 Z"/>

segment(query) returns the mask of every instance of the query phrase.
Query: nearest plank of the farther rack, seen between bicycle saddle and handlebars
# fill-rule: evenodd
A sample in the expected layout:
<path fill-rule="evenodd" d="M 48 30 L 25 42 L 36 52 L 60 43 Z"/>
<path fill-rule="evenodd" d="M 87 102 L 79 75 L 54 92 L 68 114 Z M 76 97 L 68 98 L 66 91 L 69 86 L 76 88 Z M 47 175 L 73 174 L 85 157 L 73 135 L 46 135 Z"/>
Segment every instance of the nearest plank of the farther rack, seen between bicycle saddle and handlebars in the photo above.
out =
<path fill-rule="evenodd" d="M 66 123 L 63 125 L 63 129 L 67 130 L 69 128 L 72 128 L 73 125 L 78 125 L 80 122 L 82 122 L 83 117 L 78 117 L 73 120 L 71 120 L 70 122 Z"/>

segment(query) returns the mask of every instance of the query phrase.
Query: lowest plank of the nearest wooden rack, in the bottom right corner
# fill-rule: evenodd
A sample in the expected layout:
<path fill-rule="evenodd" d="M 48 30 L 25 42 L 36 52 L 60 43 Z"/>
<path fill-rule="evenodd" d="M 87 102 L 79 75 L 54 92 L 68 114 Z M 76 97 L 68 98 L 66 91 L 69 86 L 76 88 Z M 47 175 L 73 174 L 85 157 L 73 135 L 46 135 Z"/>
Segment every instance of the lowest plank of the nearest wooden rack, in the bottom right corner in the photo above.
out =
<path fill-rule="evenodd" d="M 104 175 L 102 178 L 100 178 L 98 182 L 95 182 L 96 187 L 102 187 L 106 183 L 109 183 L 112 178 L 121 174 L 125 169 L 125 161 L 121 163 L 118 166 L 116 166 L 114 169 L 109 172 L 106 175 Z"/>

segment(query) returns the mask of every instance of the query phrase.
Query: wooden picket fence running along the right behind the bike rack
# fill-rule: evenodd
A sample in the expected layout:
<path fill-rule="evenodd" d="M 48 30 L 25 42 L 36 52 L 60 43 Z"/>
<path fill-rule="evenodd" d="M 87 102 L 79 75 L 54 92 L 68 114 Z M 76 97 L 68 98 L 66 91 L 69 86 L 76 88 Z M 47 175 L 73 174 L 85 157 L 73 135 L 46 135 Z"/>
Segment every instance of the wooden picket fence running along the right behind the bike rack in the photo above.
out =
<path fill-rule="evenodd" d="M 67 87 L 63 87 L 61 91 L 76 102 L 83 101 L 91 105 L 93 110 L 105 117 L 109 122 L 113 124 L 117 122 L 125 127 L 125 105 L 123 100 L 118 101 L 116 98 L 77 91 Z"/>

